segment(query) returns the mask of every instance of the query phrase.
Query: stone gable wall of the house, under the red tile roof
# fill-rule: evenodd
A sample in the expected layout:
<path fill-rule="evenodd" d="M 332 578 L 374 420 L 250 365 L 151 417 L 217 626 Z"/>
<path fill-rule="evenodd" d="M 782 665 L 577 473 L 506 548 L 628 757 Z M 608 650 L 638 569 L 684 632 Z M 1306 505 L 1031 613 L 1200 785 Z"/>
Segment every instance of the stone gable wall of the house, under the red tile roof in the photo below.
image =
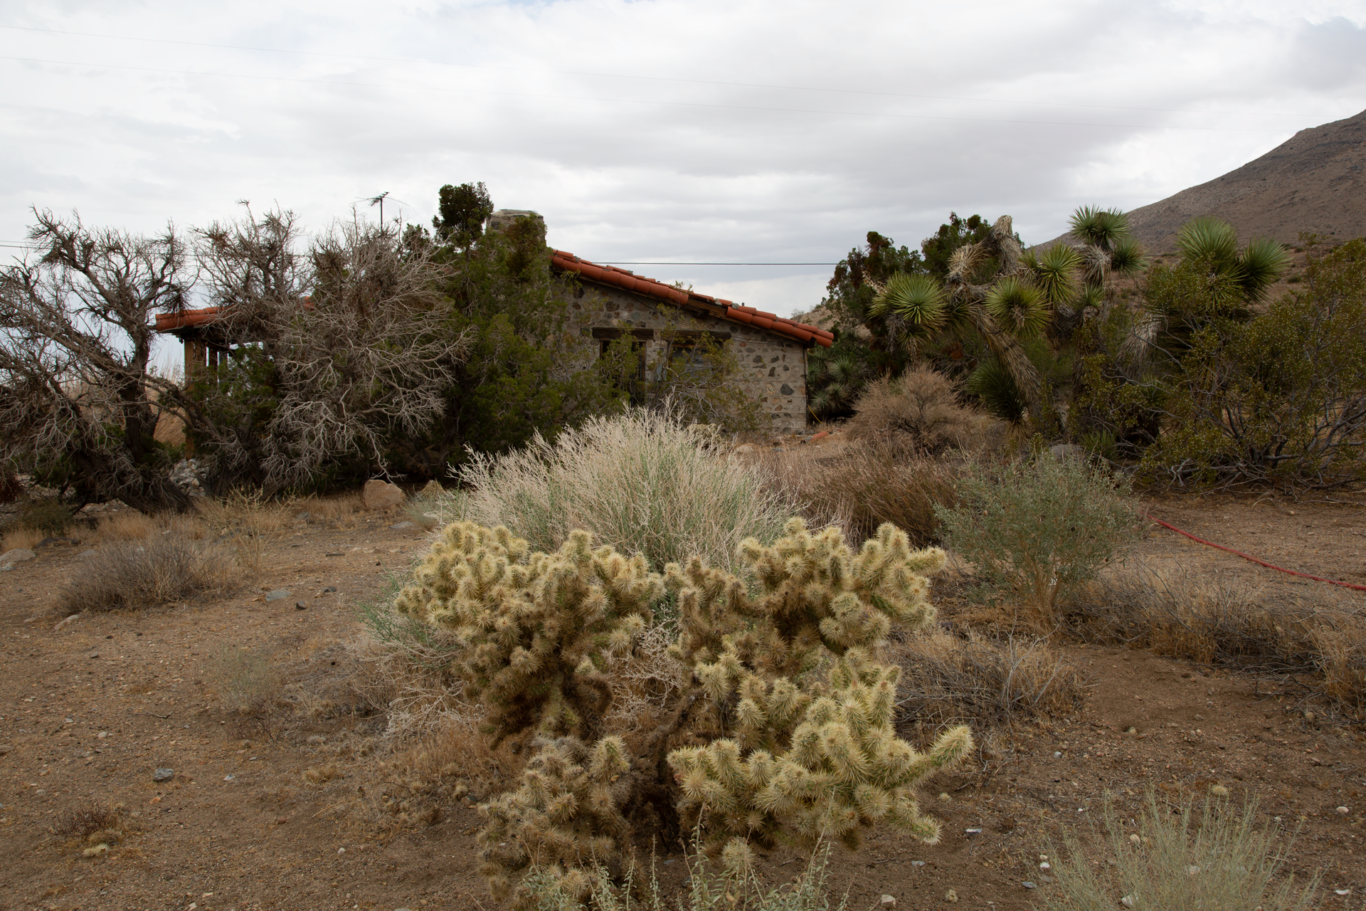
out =
<path fill-rule="evenodd" d="M 570 320 L 586 358 L 597 356 L 601 346 L 594 329 L 642 337 L 646 362 L 664 354 L 671 333 L 706 332 L 735 352 L 740 365 L 736 385 L 758 403 L 768 430 L 806 430 L 806 350 L 796 339 L 590 281 L 579 291 L 582 296 L 571 300 Z"/>

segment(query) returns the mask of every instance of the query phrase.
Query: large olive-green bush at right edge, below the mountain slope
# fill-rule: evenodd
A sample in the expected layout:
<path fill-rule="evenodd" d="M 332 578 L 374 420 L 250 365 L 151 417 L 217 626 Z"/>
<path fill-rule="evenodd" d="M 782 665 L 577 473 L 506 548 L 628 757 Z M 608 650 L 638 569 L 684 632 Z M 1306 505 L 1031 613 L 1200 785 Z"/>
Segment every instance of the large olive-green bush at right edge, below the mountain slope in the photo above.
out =
<path fill-rule="evenodd" d="M 1325 489 L 1366 477 L 1363 276 L 1358 239 L 1311 260 L 1306 287 L 1261 316 L 1223 316 L 1210 303 L 1182 337 L 1145 473 L 1205 488 Z"/>

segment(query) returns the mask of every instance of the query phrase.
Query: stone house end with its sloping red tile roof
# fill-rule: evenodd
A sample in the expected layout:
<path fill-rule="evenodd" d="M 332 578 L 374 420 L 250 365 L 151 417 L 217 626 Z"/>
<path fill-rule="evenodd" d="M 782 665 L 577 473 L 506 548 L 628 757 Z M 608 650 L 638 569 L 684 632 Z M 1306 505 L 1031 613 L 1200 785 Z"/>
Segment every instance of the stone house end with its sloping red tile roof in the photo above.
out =
<path fill-rule="evenodd" d="M 555 250 L 550 269 L 579 280 L 571 326 L 585 354 L 598 356 L 623 335 L 638 343 L 641 363 L 665 362 L 697 346 L 702 335 L 729 348 L 740 365 L 735 380 L 759 407 L 773 433 L 806 429 L 806 351 L 831 347 L 825 329 L 784 320 Z"/>

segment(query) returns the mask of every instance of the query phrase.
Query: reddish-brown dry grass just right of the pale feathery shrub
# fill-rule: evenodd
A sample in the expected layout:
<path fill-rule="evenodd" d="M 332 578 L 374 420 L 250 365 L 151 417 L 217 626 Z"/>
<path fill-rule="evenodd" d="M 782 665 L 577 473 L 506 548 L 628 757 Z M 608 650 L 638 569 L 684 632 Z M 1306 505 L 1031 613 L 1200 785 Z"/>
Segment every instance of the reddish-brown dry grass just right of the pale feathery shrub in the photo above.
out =
<path fill-rule="evenodd" d="M 836 455 L 775 452 L 765 456 L 770 483 L 802 505 L 814 526 L 837 526 L 850 541 L 865 541 L 884 522 L 906 531 L 914 546 L 938 538 L 934 507 L 952 507 L 962 466 L 907 458 L 891 443 L 856 443 Z"/>

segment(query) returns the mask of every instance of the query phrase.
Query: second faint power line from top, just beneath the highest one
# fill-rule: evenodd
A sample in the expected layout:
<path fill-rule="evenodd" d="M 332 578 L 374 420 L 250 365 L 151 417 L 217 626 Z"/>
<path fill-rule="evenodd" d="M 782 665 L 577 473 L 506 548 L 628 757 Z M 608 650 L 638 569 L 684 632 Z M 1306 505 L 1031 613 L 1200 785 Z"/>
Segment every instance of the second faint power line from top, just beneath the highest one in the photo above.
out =
<path fill-rule="evenodd" d="M 1070 120 L 1007 120 L 1003 117 L 953 117 L 953 116 L 929 115 L 929 113 L 884 113 L 878 111 L 829 111 L 824 108 L 775 108 L 768 105 L 751 105 L 751 104 L 708 104 L 702 101 L 658 101 L 650 98 L 607 98 L 594 96 L 545 94 L 534 92 L 494 92 L 492 89 L 440 89 L 436 86 L 398 85 L 385 82 L 357 82 L 351 79 L 305 79 L 301 76 L 264 76 L 247 72 L 201 72 L 195 70 L 169 70 L 165 67 L 130 67 L 127 64 L 117 64 L 117 63 L 82 63 L 76 60 L 49 60 L 44 57 L 0 56 L 0 60 L 16 60 L 19 63 L 46 63 L 64 67 L 124 70 L 133 72 L 160 72 L 167 75 L 209 76 L 220 79 L 254 79 L 258 82 L 295 82 L 303 85 L 335 85 L 335 86 L 363 87 L 363 89 L 402 89 L 404 92 L 438 92 L 443 94 L 481 94 L 481 96 L 494 96 L 503 98 L 548 98 L 556 101 L 604 101 L 608 104 L 665 105 L 672 108 L 716 108 L 720 111 L 824 113 L 824 115 L 844 116 L 844 117 L 889 117 L 895 120 L 951 120 L 960 123 L 1005 123 L 1016 126 L 1090 127 L 1102 130 L 1111 128 L 1111 130 L 1183 130 L 1183 131 L 1198 131 L 1198 132 L 1285 132 L 1285 130 L 1281 128 L 1268 128 L 1268 127 L 1176 127 L 1168 124 L 1146 124 L 1146 123 L 1078 123 Z"/>

